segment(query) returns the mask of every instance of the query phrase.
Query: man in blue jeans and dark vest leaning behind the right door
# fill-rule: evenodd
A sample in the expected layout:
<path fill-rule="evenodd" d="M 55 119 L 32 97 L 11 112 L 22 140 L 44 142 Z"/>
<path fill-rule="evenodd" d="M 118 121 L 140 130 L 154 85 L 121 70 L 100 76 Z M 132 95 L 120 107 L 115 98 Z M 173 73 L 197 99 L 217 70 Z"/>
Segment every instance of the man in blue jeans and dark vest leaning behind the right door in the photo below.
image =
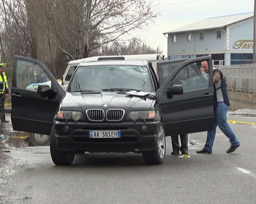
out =
<path fill-rule="evenodd" d="M 204 72 L 209 73 L 209 66 L 207 61 L 202 62 Z M 230 106 L 228 92 L 226 89 L 226 79 L 220 69 L 213 70 L 214 83 L 214 122 L 212 130 L 207 132 L 206 143 L 201 151 L 197 153 L 212 153 L 214 138 L 216 135 L 216 128 L 219 126 L 220 130 L 229 138 L 231 143 L 230 148 L 226 153 L 231 153 L 240 146 L 240 142 L 233 130 L 226 121 L 228 107 Z"/>

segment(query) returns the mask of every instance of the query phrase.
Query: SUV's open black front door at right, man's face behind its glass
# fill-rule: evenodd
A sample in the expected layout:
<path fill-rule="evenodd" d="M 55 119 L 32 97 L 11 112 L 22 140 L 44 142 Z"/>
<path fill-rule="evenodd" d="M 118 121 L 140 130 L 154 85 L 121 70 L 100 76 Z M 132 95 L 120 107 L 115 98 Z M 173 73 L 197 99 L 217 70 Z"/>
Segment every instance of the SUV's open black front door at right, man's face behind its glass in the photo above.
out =
<path fill-rule="evenodd" d="M 201 72 L 198 67 L 203 61 L 208 62 L 208 73 Z M 172 66 L 173 62 L 170 61 Z M 161 81 L 165 69 L 171 67 L 168 64 L 158 64 L 162 74 L 159 75 L 160 88 L 155 107 L 162 117 L 166 136 L 211 130 L 214 120 L 212 58 L 207 56 L 180 62 Z"/>

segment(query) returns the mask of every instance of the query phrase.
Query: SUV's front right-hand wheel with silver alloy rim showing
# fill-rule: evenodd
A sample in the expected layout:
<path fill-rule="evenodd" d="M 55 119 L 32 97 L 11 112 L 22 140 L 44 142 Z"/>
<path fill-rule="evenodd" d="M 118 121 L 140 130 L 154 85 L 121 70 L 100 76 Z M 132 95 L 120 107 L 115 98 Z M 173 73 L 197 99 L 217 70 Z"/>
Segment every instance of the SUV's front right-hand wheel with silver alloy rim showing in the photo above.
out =
<path fill-rule="evenodd" d="M 165 130 L 160 122 L 158 131 L 158 143 L 153 151 L 143 152 L 143 159 L 146 164 L 162 164 L 165 158 Z"/>

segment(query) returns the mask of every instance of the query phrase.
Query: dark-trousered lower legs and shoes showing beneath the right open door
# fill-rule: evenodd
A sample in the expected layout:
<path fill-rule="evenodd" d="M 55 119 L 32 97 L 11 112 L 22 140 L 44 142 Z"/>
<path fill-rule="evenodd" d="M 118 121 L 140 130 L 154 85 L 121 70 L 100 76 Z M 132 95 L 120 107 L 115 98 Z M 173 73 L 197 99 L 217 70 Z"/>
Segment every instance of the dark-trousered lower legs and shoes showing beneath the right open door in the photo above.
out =
<path fill-rule="evenodd" d="M 172 140 L 171 154 L 176 155 L 176 154 L 179 154 L 180 151 L 182 154 L 188 153 L 188 147 L 187 147 L 188 135 L 187 134 L 180 134 L 181 147 L 178 141 L 178 134 L 171 135 L 171 140 Z"/>

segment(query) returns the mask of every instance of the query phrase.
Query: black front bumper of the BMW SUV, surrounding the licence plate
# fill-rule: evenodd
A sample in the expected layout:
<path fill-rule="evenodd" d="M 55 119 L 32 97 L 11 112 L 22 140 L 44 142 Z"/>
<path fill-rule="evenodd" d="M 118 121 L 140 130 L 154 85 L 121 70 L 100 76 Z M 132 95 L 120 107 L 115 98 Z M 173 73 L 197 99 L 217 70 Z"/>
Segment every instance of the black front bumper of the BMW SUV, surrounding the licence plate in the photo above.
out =
<path fill-rule="evenodd" d="M 58 149 L 86 152 L 142 152 L 156 148 L 160 121 L 144 123 L 77 123 L 55 121 Z M 69 130 L 64 127 L 68 125 Z M 146 130 L 142 126 L 146 125 Z M 90 130 L 120 130 L 121 138 L 89 138 Z"/>

